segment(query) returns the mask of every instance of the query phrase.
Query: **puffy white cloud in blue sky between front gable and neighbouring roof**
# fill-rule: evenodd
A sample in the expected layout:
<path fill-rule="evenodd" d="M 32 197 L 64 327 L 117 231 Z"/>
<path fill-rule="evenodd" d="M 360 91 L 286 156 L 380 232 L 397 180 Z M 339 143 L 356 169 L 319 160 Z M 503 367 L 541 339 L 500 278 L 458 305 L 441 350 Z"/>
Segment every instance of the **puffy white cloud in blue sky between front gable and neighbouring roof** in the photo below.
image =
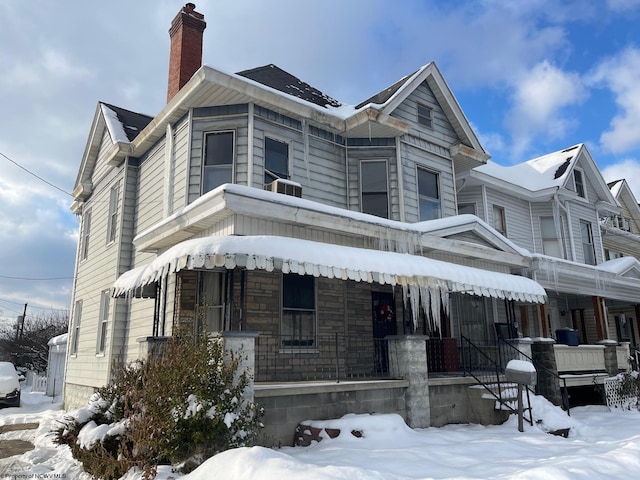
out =
<path fill-rule="evenodd" d="M 576 124 L 564 109 L 581 103 L 587 93 L 577 73 L 565 72 L 546 60 L 524 74 L 513 88 L 507 128 L 517 153 L 536 137 L 563 137 Z"/>

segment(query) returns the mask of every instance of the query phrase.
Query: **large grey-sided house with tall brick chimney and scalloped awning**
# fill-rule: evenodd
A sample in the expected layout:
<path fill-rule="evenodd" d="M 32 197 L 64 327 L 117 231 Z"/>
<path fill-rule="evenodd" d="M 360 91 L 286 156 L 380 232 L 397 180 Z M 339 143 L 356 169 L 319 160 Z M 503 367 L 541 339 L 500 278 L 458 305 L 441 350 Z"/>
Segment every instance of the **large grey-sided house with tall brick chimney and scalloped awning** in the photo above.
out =
<path fill-rule="evenodd" d="M 172 22 L 157 115 L 96 108 L 65 405 L 186 328 L 249 352 L 282 441 L 347 412 L 469 421 L 461 339 L 495 349 L 547 294 L 527 250 L 457 215 L 457 175 L 489 155 L 437 66 L 344 105 L 275 65 L 201 66 L 205 27 L 190 3 Z"/>

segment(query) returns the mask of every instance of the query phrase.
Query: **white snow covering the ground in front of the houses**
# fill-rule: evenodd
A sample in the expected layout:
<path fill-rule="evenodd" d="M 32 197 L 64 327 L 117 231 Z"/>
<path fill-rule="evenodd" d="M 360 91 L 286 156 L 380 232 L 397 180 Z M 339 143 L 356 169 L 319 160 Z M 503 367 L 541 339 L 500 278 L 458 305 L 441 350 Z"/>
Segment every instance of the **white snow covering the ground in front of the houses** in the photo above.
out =
<path fill-rule="evenodd" d="M 351 415 L 317 422 L 339 428 L 309 447 L 229 450 L 209 459 L 190 475 L 161 468 L 158 479 L 208 480 L 406 480 L 406 479 L 630 479 L 640 472 L 640 413 L 604 406 L 575 408 L 571 417 L 540 397 L 532 402 L 537 426 L 517 418 L 504 425 L 450 425 L 412 430 L 396 415 Z M 49 431 L 64 412 L 60 403 L 23 393 L 21 408 L 0 409 L 0 425 L 40 422 L 37 430 L 0 434 L 32 441 L 35 449 L 0 460 L 0 478 L 89 479 L 67 447 L 57 447 Z M 568 438 L 544 430 L 570 427 Z M 349 432 L 359 430 L 362 438 Z M 346 432 L 346 433 L 344 433 Z M 57 474 L 57 475 L 56 475 Z M 138 480 L 131 472 L 127 480 Z"/>

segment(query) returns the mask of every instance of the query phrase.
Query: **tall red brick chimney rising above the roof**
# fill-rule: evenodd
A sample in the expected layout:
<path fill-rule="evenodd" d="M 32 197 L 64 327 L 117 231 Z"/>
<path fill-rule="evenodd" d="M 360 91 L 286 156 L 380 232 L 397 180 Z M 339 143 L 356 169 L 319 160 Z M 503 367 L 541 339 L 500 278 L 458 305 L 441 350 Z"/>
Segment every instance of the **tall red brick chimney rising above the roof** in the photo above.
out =
<path fill-rule="evenodd" d="M 202 66 L 202 33 L 207 23 L 195 8 L 187 3 L 171 22 L 167 103 Z"/>

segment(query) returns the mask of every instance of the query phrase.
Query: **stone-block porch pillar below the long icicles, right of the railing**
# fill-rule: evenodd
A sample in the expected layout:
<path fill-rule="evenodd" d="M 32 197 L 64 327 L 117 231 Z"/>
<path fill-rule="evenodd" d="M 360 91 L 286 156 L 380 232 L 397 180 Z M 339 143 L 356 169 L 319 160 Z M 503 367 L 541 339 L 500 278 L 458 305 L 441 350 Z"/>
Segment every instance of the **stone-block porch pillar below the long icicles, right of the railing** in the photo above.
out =
<path fill-rule="evenodd" d="M 407 424 L 412 428 L 431 425 L 426 335 L 391 335 L 389 343 L 389 373 L 409 380 L 405 394 Z"/>

